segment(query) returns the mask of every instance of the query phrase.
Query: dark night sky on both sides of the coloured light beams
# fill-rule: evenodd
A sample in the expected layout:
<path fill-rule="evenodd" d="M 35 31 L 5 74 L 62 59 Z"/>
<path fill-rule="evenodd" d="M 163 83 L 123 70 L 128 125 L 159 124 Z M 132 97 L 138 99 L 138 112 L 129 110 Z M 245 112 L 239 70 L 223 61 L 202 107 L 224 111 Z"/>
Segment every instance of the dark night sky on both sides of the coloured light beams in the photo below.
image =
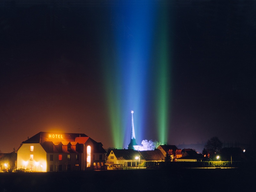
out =
<path fill-rule="evenodd" d="M 124 38 L 133 35 L 127 13 L 118 14 L 122 25 L 116 22 L 121 1 L 18 2 L 0 3 L 0 150 L 12 152 L 41 131 L 80 131 L 104 148 L 116 147 L 104 78 L 113 66 L 104 63 L 101 45 L 115 52 L 116 28 Z M 130 2 L 143 9 L 151 1 Z M 217 136 L 248 145 L 256 127 L 256 2 L 156 2 L 159 12 L 167 10 L 171 47 L 168 144 Z M 161 29 L 151 33 L 154 39 Z M 138 135 L 134 124 L 138 144 L 137 138 L 158 140 L 155 90 L 145 92 L 147 131 Z M 130 132 L 131 122 L 124 129 Z"/>

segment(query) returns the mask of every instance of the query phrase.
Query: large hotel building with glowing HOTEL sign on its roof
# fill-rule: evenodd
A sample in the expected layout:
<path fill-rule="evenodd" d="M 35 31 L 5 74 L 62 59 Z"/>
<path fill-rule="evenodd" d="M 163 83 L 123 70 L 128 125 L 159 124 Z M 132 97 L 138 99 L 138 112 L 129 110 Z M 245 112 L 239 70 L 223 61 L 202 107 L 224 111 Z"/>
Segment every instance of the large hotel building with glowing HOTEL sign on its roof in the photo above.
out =
<path fill-rule="evenodd" d="M 85 134 L 39 132 L 21 143 L 17 168 L 35 172 L 102 170 L 105 153 L 100 142 Z"/>

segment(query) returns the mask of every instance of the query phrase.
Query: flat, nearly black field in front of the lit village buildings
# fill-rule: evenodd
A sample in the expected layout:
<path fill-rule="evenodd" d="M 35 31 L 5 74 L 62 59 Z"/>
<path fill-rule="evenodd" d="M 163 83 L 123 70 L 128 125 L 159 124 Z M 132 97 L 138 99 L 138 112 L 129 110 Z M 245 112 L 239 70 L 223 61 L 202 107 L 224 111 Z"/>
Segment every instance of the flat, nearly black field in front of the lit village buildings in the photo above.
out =
<path fill-rule="evenodd" d="M 9 191 L 253 191 L 255 168 L 1 173 Z"/>

